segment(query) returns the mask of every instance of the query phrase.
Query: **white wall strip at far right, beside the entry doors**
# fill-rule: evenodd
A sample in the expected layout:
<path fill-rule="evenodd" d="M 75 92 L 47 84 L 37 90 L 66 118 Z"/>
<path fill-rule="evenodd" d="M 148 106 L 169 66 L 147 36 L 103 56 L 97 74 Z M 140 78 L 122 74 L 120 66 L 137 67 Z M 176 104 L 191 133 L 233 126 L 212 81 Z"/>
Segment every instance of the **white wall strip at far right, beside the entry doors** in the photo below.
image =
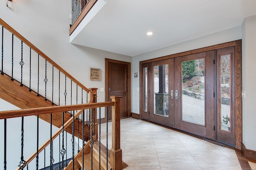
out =
<path fill-rule="evenodd" d="M 243 98 L 243 143 L 246 149 L 256 150 L 256 16 L 248 17 L 242 24 L 242 89 Z"/>

